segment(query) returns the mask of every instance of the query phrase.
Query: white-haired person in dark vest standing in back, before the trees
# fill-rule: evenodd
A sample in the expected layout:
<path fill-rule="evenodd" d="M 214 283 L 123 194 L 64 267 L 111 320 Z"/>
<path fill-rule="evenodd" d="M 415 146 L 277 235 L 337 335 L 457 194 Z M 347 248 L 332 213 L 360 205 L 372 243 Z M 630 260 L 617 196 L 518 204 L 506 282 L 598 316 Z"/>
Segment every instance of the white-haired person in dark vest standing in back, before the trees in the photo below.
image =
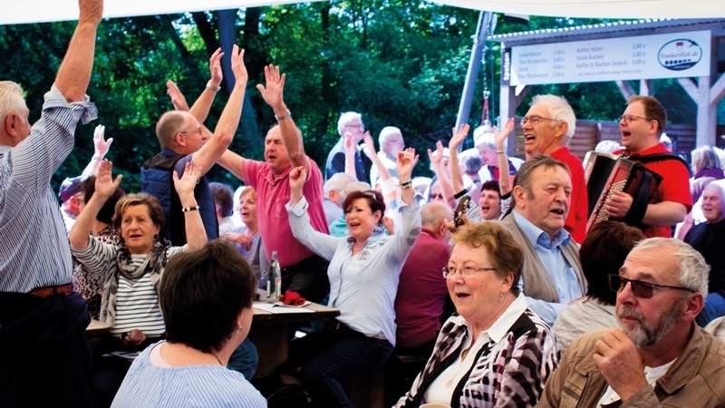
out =
<path fill-rule="evenodd" d="M 355 148 L 355 176 L 359 181 L 367 182 L 372 162 L 362 154 L 362 148 L 357 146 L 362 141 L 365 134 L 365 125 L 362 123 L 362 115 L 358 112 L 343 112 L 337 121 L 337 133 L 340 139 L 334 144 L 330 153 L 327 155 L 327 161 L 324 165 L 324 180 L 333 177 L 335 173 L 343 173 L 345 171 L 345 139 L 352 138 Z"/>

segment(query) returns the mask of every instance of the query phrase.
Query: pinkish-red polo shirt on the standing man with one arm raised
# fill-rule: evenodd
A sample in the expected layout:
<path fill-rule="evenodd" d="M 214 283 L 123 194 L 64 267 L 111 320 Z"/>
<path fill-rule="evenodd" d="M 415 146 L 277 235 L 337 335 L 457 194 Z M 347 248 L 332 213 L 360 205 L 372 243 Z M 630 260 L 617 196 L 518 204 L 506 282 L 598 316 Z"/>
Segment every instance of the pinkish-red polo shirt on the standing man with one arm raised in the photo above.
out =
<path fill-rule="evenodd" d="M 304 182 L 303 194 L 309 203 L 307 213 L 312 227 L 325 234 L 329 233 L 323 209 L 323 175 L 312 159 L 310 174 Z M 289 171 L 275 176 L 264 161 L 244 160 L 242 177 L 256 189 L 256 211 L 259 222 L 259 234 L 265 244 L 267 259 L 273 250 L 277 251 L 281 267 L 289 267 L 312 255 L 312 251 L 300 244 L 292 236 L 285 204 L 289 202 Z"/>

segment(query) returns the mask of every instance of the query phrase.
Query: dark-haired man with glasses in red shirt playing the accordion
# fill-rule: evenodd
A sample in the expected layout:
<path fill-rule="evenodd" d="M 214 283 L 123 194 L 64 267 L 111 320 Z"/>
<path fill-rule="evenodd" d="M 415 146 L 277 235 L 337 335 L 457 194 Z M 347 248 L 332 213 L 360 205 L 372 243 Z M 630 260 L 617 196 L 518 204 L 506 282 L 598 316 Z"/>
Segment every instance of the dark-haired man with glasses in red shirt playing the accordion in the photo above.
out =
<path fill-rule="evenodd" d="M 662 176 L 646 206 L 633 206 L 629 194 L 615 192 L 604 204 L 613 219 L 623 219 L 642 228 L 645 237 L 672 237 L 672 226 L 681 222 L 692 208 L 687 164 L 660 142 L 667 126 L 667 112 L 662 103 L 650 96 L 634 96 L 619 121 L 623 154 L 630 160 Z"/>

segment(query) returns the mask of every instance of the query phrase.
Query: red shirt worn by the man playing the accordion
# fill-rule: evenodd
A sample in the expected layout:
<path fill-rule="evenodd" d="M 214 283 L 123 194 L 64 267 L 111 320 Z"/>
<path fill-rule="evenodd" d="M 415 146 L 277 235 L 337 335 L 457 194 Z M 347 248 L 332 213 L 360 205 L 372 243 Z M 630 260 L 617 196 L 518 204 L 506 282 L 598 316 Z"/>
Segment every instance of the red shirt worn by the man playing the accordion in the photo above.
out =
<path fill-rule="evenodd" d="M 662 153 L 672 154 L 672 151 L 667 150 L 662 143 L 657 143 L 649 149 L 632 154 L 630 159 L 636 161 L 637 157 Z M 626 154 L 626 151 L 614 151 L 614 154 Z M 642 164 L 647 169 L 662 176 L 660 187 L 654 190 L 650 204 L 657 204 L 662 201 L 679 202 L 690 211 L 692 208 L 690 172 L 680 160 L 660 160 Z M 648 226 L 642 232 L 647 238 L 672 238 L 672 226 Z"/>

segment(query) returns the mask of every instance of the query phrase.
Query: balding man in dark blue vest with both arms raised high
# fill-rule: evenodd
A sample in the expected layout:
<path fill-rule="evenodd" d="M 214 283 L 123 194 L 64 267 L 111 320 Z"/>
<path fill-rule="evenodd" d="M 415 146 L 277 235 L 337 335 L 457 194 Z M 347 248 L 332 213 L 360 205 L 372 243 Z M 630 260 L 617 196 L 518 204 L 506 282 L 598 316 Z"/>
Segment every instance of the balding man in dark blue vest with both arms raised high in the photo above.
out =
<path fill-rule="evenodd" d="M 211 103 L 219 91 L 222 80 L 221 57 L 224 53 L 218 49 L 209 58 L 211 79 L 197 102 L 189 108 L 175 83 L 167 83 L 168 93 L 175 110 L 161 115 L 156 123 L 156 136 L 161 151 L 146 160 L 141 167 L 141 191 L 159 199 L 164 209 L 166 228 L 162 231 L 174 246 L 187 243 L 184 227 L 184 212 L 198 210 L 204 222 L 209 240 L 218 238 L 219 227 L 214 196 L 206 177 L 198 180 L 194 196 L 198 201 L 196 208 L 182 208 L 179 195 L 174 189 L 171 174 L 176 171 L 179 177 L 189 161 L 194 161 L 204 175 L 227 150 L 237 132 L 242 114 L 244 92 L 247 87 L 247 68 L 244 65 L 244 50 L 233 46 L 231 69 L 234 73 L 234 86 L 229 93 L 227 106 L 219 117 L 214 133 L 204 126 Z"/>

